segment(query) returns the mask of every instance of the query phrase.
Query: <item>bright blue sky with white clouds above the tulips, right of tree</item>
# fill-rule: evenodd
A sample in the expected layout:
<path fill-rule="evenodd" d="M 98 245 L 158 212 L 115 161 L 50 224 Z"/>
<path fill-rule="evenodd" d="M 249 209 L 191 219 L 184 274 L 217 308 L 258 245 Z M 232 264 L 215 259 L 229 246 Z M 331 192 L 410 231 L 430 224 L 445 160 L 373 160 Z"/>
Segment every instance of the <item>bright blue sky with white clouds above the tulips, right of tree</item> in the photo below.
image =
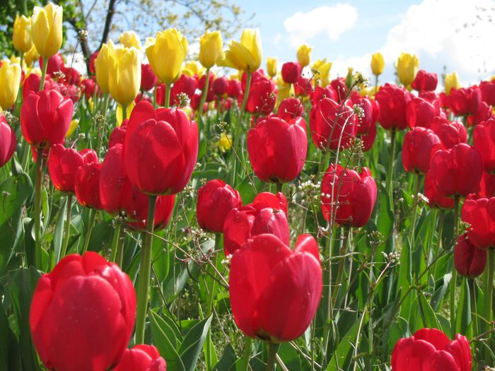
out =
<path fill-rule="evenodd" d="M 491 0 L 417 1 L 238 1 L 255 13 L 263 57 L 279 62 L 296 59 L 296 45 L 313 47 L 312 60 L 332 61 L 331 76 L 353 66 L 371 73 L 373 52 L 382 52 L 383 80 L 394 80 L 394 61 L 412 52 L 420 69 L 439 75 L 458 71 L 464 83 L 495 73 L 495 2 Z M 491 21 L 490 21 L 491 19 Z"/>

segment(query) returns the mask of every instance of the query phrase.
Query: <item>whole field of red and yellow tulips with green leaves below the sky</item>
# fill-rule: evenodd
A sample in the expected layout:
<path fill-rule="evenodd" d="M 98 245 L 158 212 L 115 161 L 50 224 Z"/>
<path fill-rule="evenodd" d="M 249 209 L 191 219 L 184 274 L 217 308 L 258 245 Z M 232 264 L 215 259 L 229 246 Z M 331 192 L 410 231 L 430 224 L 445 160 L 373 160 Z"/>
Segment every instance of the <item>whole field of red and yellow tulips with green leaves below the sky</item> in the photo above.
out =
<path fill-rule="evenodd" d="M 0 62 L 0 370 L 493 370 L 495 77 L 331 78 L 251 28 L 83 73 L 63 21 Z"/>

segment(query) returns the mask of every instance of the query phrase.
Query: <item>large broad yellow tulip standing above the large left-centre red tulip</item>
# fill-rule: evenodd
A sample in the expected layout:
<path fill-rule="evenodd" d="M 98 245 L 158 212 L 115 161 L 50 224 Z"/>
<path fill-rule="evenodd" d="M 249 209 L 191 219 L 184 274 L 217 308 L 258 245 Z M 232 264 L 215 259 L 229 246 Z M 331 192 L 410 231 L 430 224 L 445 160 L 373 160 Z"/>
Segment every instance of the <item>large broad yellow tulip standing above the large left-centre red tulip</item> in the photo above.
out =
<path fill-rule="evenodd" d="M 147 41 L 146 55 L 155 75 L 167 85 L 177 81 L 187 55 L 185 37 L 176 28 L 170 28 Z"/>

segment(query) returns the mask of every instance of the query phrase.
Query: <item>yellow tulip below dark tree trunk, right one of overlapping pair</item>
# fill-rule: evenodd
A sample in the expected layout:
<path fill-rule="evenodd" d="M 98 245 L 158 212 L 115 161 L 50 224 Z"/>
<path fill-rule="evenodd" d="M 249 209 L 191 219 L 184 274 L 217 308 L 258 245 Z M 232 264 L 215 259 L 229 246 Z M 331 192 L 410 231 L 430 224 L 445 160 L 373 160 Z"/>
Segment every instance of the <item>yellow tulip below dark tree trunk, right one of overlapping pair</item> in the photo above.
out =
<path fill-rule="evenodd" d="M 140 86 L 141 60 L 137 49 L 115 49 L 108 73 L 108 90 L 112 98 L 121 105 L 129 105 L 139 93 Z"/>

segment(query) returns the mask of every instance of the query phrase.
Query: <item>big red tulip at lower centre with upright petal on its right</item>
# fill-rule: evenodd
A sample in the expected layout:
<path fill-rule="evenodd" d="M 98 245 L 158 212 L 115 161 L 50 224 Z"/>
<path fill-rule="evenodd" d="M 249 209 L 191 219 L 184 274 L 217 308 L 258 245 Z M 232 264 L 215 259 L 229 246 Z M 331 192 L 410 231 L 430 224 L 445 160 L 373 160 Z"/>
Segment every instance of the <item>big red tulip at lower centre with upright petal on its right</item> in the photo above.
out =
<path fill-rule="evenodd" d="M 228 290 L 235 324 L 247 336 L 276 342 L 298 338 L 322 295 L 315 239 L 300 235 L 292 250 L 274 235 L 252 237 L 233 254 Z"/>

